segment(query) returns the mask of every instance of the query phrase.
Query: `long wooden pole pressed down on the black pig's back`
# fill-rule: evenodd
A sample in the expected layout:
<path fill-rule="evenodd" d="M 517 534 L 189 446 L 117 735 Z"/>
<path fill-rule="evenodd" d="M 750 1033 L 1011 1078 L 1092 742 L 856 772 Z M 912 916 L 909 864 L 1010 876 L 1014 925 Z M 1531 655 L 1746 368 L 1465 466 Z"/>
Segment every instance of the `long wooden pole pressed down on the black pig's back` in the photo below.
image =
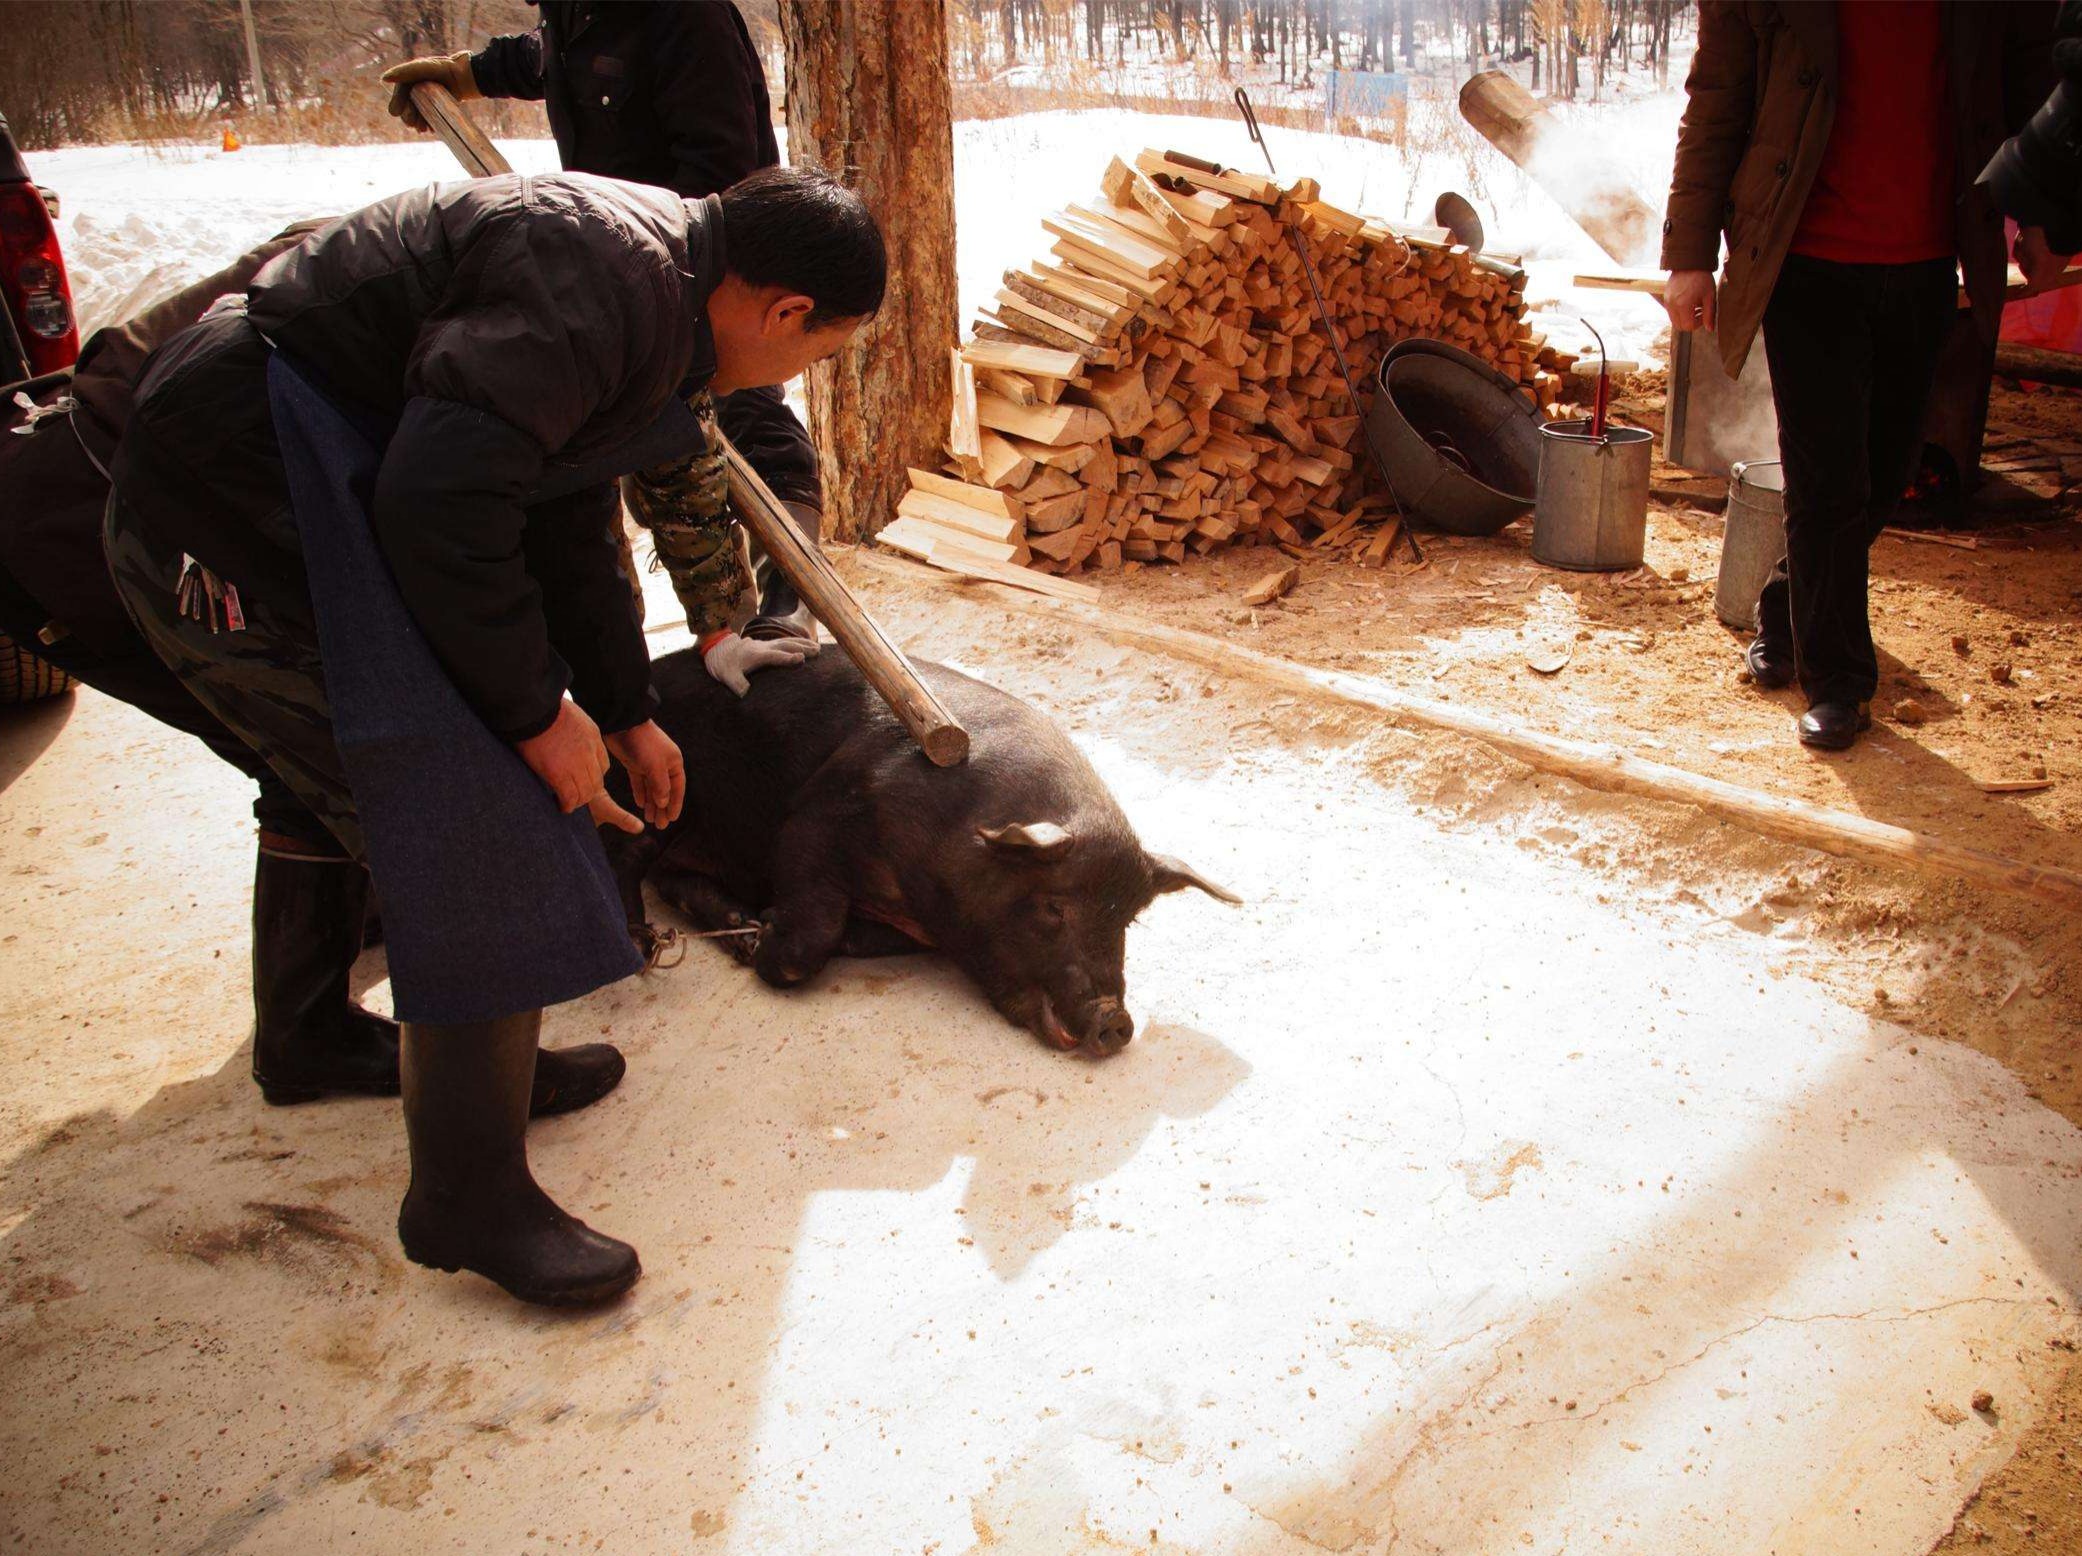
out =
<path fill-rule="evenodd" d="M 500 154 L 481 129 L 456 102 L 454 94 L 435 83 L 418 81 L 412 87 L 412 106 L 433 127 L 433 133 L 456 154 L 473 177 L 512 173 L 512 165 Z M 760 542 L 781 577 L 795 585 L 795 594 L 810 606 L 837 639 L 845 656 L 868 677 L 868 685 L 889 704 L 889 710 L 904 721 L 904 727 L 918 742 L 933 767 L 956 767 L 968 760 L 968 731 L 956 723 L 945 704 L 933 696 L 918 673 L 904 658 L 889 635 L 860 608 L 860 602 L 845 589 L 839 575 L 831 571 L 824 552 L 808 544 L 789 521 L 787 510 L 766 490 L 766 483 L 745 462 L 745 456 L 731 448 L 731 440 L 710 427 L 710 435 L 722 444 L 731 473 L 731 502 L 745 529 Z"/>

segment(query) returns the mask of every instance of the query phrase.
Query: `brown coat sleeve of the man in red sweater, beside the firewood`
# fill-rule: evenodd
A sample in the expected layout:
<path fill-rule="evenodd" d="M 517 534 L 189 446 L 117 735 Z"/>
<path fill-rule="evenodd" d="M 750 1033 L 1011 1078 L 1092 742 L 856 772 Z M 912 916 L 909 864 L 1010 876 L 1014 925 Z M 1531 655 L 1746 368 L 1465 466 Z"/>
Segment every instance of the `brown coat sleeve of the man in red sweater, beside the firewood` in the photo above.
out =
<path fill-rule="evenodd" d="M 1728 185 L 1749 150 L 1757 104 L 1757 37 L 1730 0 L 1699 0 L 1699 48 L 1684 79 L 1684 119 L 1664 212 L 1666 271 L 1720 269 Z"/>

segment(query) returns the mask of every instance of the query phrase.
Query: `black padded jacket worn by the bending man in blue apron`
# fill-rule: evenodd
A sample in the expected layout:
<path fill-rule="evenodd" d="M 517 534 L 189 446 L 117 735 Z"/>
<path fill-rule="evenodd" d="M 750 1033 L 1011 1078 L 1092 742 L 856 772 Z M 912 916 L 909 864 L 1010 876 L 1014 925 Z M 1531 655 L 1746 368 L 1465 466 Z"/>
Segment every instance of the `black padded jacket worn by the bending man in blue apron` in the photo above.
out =
<path fill-rule="evenodd" d="M 583 173 L 379 200 L 262 269 L 246 312 L 152 356 L 119 496 L 242 592 L 300 600 L 264 381 L 269 348 L 289 352 L 341 406 L 396 427 L 369 494 L 377 542 L 493 733 L 539 733 L 566 687 L 602 729 L 627 729 L 656 694 L 612 477 L 658 462 L 643 433 L 714 375 L 722 262 L 718 202 Z"/>

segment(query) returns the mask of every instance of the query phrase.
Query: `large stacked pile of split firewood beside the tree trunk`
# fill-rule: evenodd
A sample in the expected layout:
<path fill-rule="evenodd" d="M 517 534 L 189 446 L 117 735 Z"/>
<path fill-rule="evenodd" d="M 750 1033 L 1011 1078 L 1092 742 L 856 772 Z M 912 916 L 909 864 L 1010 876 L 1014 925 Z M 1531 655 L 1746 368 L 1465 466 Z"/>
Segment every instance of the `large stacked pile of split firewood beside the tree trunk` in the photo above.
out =
<path fill-rule="evenodd" d="M 1318 196 L 1176 152 L 1114 158 L 1099 196 L 1043 219 L 1047 256 L 1006 271 L 956 352 L 949 475 L 914 471 L 879 539 L 972 573 L 1251 542 L 1385 560 L 1393 498 L 1360 427 L 1389 346 L 1451 342 L 1543 410 L 1570 362 L 1524 323 L 1524 271 Z"/>

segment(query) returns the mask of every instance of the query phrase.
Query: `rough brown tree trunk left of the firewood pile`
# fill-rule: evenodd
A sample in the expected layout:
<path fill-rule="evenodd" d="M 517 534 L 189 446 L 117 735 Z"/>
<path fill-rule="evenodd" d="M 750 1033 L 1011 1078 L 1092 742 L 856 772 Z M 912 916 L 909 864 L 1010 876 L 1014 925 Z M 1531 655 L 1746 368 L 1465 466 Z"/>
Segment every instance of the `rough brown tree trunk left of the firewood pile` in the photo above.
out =
<path fill-rule="evenodd" d="M 956 344 L 954 106 L 945 0 L 783 0 L 789 160 L 856 190 L 889 244 L 889 296 L 808 375 L 824 533 L 872 535 L 939 462 Z"/>

